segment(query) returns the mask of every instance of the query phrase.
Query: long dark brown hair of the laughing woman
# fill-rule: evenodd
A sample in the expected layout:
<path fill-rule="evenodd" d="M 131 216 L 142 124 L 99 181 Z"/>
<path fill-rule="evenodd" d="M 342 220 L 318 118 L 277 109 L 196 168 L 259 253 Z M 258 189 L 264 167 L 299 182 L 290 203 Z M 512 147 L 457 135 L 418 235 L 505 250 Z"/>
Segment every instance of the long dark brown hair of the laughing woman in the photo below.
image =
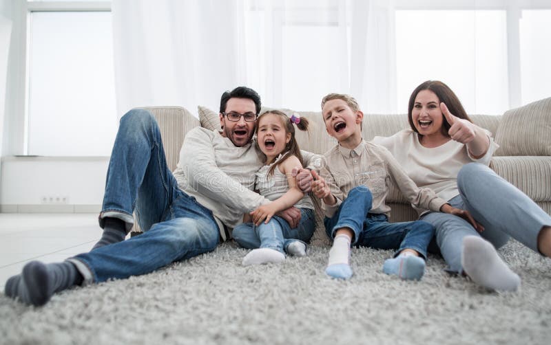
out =
<path fill-rule="evenodd" d="M 419 133 L 415 128 L 415 124 L 413 124 L 413 118 L 411 117 L 411 112 L 413 111 L 413 105 L 415 104 L 415 98 L 417 97 L 417 93 L 423 90 L 430 90 L 436 94 L 439 100 L 438 107 L 440 107 L 440 102 L 444 102 L 444 104 L 446 104 L 446 106 L 450 110 L 450 113 L 452 113 L 454 116 L 457 116 L 457 118 L 465 119 L 472 122 L 472 120 L 470 120 L 469 116 L 467 115 L 465 109 L 463 108 L 463 105 L 461 105 L 459 98 L 455 96 L 455 93 L 453 93 L 452 89 L 450 89 L 448 85 L 444 84 L 444 82 L 441 82 L 439 80 L 427 80 L 426 82 L 423 82 L 421 85 L 416 87 L 415 90 L 413 90 L 413 93 L 411 93 L 411 96 L 409 98 L 408 121 L 409 121 L 409 125 L 411 126 L 411 129 L 414 132 Z M 442 122 L 442 126 L 444 126 L 444 129 L 446 129 L 446 135 L 447 135 L 448 130 L 450 129 L 450 124 L 448 124 L 448 120 L 446 120 L 446 117 L 444 116 L 444 114 L 442 114 L 442 117 L 444 118 L 444 121 Z"/>

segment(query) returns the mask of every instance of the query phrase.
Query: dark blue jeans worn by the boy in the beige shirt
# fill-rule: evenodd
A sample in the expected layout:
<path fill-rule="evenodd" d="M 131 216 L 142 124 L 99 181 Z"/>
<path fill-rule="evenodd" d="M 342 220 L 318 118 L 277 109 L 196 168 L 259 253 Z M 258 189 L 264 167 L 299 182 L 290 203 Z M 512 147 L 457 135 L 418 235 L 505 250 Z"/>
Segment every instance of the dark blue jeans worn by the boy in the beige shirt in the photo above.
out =
<path fill-rule="evenodd" d="M 324 219 L 327 236 L 348 227 L 354 233 L 352 245 L 375 249 L 413 249 L 426 258 L 426 249 L 434 235 L 434 227 L 424 221 L 388 223 L 385 214 L 370 214 L 373 197 L 366 186 L 353 188 L 335 214 Z"/>

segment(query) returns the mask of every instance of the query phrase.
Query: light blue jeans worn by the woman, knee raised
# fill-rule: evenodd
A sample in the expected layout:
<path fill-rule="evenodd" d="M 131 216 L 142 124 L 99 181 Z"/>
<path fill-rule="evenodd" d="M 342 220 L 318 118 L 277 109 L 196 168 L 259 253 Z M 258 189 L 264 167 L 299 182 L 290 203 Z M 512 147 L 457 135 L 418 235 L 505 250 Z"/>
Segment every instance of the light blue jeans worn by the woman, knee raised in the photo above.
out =
<path fill-rule="evenodd" d="M 430 212 L 421 219 L 436 227 L 436 243 L 448 263 L 448 271 L 461 272 L 461 246 L 465 236 L 482 236 L 496 248 L 512 236 L 534 252 L 537 237 L 551 216 L 511 183 L 479 163 L 469 163 L 457 175 L 459 195 L 448 201 L 468 210 L 485 230 L 479 234 L 470 223 L 447 213 Z"/>

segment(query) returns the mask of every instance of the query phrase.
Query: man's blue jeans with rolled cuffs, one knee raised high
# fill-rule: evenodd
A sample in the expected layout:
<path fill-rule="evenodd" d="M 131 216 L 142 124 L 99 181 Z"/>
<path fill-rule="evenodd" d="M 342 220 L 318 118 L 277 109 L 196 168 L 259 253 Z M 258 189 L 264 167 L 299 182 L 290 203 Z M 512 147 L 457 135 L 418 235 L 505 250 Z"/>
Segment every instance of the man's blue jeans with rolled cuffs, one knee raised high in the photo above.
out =
<path fill-rule="evenodd" d="M 155 119 L 137 109 L 125 114 L 118 128 L 100 225 L 105 214 L 128 222 L 134 209 L 144 234 L 69 259 L 85 282 L 147 274 L 218 245 L 212 212 L 178 188 Z"/>

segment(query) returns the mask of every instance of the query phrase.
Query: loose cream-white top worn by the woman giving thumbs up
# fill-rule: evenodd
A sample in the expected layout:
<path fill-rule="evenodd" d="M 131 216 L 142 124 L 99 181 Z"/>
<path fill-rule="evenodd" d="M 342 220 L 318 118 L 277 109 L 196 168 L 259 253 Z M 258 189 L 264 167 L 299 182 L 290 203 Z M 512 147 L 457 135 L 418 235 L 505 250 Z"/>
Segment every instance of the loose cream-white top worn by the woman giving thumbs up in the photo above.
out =
<path fill-rule="evenodd" d="M 474 159 L 468 153 L 466 145 L 454 140 L 435 148 L 427 148 L 419 142 L 419 136 L 411 129 L 404 129 L 391 137 L 375 137 L 373 142 L 391 151 L 419 188 L 431 188 L 439 197 L 449 201 L 459 194 L 457 174 L 464 164 L 490 164 L 490 159 L 499 146 L 490 132 L 486 131 L 486 134 L 490 138 L 490 148 L 480 159 Z"/>

